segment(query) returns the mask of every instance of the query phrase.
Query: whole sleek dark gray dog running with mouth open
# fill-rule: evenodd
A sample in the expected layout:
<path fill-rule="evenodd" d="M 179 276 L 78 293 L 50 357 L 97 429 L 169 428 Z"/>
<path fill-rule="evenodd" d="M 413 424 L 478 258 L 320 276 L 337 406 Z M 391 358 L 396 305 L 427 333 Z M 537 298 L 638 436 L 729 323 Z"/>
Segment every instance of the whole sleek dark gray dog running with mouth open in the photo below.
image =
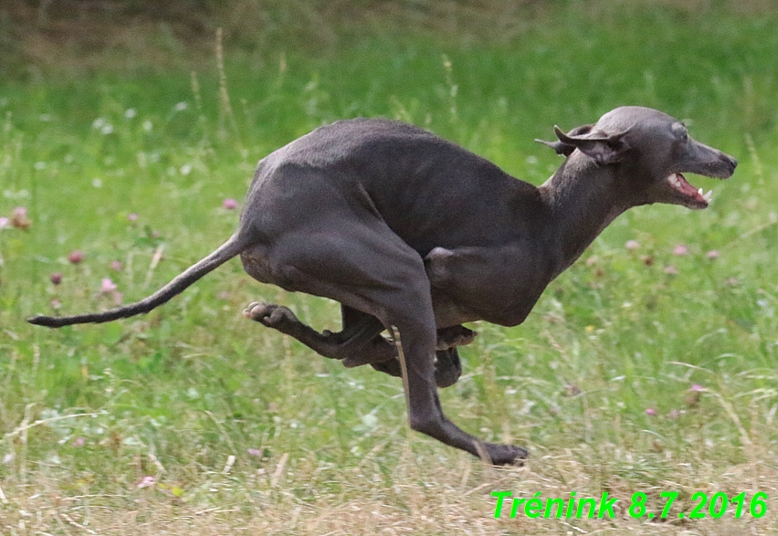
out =
<path fill-rule="evenodd" d="M 558 141 L 543 143 L 566 158 L 535 187 L 412 125 L 321 127 L 262 159 L 237 233 L 152 296 L 29 321 L 60 327 L 145 313 L 239 255 L 258 281 L 342 304 L 338 333 L 314 331 L 277 305 L 252 303 L 248 318 L 346 366 L 403 376 L 414 430 L 509 464 L 527 451 L 482 443 L 443 415 L 436 389 L 457 382 L 457 346 L 475 336 L 461 324 L 520 324 L 616 216 L 651 203 L 705 208 L 710 195 L 682 173 L 723 179 L 737 166 L 647 108 L 554 130 Z"/>

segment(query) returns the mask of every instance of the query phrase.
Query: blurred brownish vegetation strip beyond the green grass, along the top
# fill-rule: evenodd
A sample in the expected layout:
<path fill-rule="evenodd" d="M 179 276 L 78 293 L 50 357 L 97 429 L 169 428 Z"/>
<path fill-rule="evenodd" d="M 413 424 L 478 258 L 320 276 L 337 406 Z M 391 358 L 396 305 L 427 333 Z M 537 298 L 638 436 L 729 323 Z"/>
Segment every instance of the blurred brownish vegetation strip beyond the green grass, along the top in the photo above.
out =
<path fill-rule="evenodd" d="M 216 28 L 247 52 L 331 49 L 343 38 L 433 32 L 510 42 L 559 8 L 608 13 L 619 5 L 679 12 L 773 10 L 775 0 L 0 0 L 0 76 L 29 68 L 105 67 L 122 58 L 166 66 L 212 55 Z M 100 58 L 96 58 L 100 56 Z"/>

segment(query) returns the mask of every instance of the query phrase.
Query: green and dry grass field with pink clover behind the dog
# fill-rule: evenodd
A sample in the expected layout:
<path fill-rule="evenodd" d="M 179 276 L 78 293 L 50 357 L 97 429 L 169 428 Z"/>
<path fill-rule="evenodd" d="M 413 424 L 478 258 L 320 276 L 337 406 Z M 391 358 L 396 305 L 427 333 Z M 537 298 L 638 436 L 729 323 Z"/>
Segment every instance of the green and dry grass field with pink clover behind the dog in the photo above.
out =
<path fill-rule="evenodd" d="M 773 533 L 778 17 L 697 4 L 573 2 L 506 39 L 371 26 L 318 54 L 227 47 L 224 68 L 135 58 L 0 81 L 0 532 Z M 398 380 L 245 320 L 268 300 L 334 330 L 339 310 L 237 261 L 147 316 L 24 321 L 157 289 L 232 233 L 257 161 L 322 123 L 411 121 L 541 184 L 559 160 L 534 138 L 623 104 L 687 120 L 741 164 L 693 179 L 708 210 L 616 220 L 522 326 L 474 324 L 442 403 L 529 447 L 523 468 L 415 434 Z M 611 520 L 496 520 L 503 489 L 620 500 Z M 668 490 L 668 520 L 630 517 L 633 493 L 658 512 Z M 697 491 L 762 491 L 767 510 L 678 519 Z"/>

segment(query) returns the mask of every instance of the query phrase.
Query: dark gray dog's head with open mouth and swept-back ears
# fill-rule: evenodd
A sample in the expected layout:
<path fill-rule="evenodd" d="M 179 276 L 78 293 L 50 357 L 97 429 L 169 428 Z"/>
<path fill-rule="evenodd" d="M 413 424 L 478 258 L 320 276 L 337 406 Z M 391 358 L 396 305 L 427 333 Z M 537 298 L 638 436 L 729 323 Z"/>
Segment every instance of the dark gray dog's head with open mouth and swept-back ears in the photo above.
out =
<path fill-rule="evenodd" d="M 730 155 L 693 140 L 682 122 L 650 108 L 616 108 L 594 125 L 554 131 L 557 142 L 538 141 L 569 159 L 614 166 L 616 186 L 629 205 L 705 208 L 710 192 L 703 194 L 683 173 L 726 179 L 738 165 Z"/>

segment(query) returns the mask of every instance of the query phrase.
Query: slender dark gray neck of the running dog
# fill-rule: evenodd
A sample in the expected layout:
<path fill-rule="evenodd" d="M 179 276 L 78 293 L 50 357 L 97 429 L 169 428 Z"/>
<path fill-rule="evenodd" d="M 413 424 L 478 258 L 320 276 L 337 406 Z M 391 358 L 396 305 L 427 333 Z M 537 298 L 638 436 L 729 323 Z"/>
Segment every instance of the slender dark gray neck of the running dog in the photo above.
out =
<path fill-rule="evenodd" d="M 581 257 L 594 238 L 630 206 L 619 198 L 612 166 L 598 166 L 590 158 L 575 156 L 540 187 L 550 215 L 546 243 L 558 255 L 553 278 Z"/>

